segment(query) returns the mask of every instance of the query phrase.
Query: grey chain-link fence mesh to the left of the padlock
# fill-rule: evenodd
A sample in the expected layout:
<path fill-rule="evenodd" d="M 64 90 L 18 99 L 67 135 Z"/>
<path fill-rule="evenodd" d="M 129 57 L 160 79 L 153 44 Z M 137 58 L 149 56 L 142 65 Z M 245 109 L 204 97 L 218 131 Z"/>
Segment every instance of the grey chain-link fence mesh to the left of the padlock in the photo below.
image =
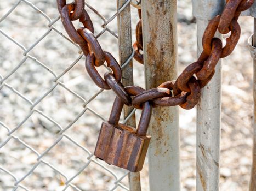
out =
<path fill-rule="evenodd" d="M 86 1 L 96 37 L 115 57 L 112 21 L 129 2 L 117 11 L 97 2 L 104 3 L 100 13 Z M 65 33 L 55 1 L 1 1 L 0 10 L 0 187 L 129 190 L 128 171 L 93 156 L 115 96 L 84 75 L 85 57 Z"/>

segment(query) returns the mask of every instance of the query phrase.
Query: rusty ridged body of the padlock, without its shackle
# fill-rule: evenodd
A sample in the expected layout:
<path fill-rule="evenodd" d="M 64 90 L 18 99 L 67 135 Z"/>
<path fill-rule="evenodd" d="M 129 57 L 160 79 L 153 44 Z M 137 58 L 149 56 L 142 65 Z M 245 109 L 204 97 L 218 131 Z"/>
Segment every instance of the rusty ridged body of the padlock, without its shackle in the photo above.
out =
<path fill-rule="evenodd" d="M 143 168 L 151 136 L 139 136 L 136 129 L 124 124 L 117 127 L 103 122 L 95 148 L 95 156 L 106 163 L 138 172 Z"/>

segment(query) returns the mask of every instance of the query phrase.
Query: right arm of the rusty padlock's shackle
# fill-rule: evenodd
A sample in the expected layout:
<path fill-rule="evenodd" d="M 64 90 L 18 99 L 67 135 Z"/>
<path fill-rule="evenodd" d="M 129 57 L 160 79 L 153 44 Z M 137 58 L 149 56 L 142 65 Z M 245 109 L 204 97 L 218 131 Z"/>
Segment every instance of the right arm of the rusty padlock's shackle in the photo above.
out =
<path fill-rule="evenodd" d="M 137 128 L 136 134 L 140 136 L 147 135 L 147 128 L 149 127 L 151 118 L 152 107 L 149 102 L 143 103 L 143 108 L 141 112 L 139 126 Z"/>

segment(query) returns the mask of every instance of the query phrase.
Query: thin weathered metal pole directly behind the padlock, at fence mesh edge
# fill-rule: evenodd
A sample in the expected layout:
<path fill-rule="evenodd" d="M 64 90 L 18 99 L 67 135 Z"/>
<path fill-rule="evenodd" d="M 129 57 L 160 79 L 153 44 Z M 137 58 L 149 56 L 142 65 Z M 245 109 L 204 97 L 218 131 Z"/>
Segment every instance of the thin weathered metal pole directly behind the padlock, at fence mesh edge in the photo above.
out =
<path fill-rule="evenodd" d="M 120 9 L 123 4 L 125 4 L 127 0 L 117 0 L 117 9 Z M 119 42 L 119 55 L 120 55 L 120 63 L 123 65 L 130 55 L 132 55 L 132 34 L 131 34 L 131 20 L 130 20 L 130 5 L 117 16 L 118 20 L 118 42 Z M 133 85 L 133 62 L 132 60 L 129 64 L 122 70 L 122 83 L 124 86 Z M 124 118 L 126 118 L 130 112 L 132 112 L 133 108 L 124 106 Z M 135 127 L 136 119 L 135 114 L 132 115 L 128 121 L 126 122 L 128 126 Z M 129 174 L 129 186 L 130 190 L 140 191 L 140 173 L 130 172 Z"/>

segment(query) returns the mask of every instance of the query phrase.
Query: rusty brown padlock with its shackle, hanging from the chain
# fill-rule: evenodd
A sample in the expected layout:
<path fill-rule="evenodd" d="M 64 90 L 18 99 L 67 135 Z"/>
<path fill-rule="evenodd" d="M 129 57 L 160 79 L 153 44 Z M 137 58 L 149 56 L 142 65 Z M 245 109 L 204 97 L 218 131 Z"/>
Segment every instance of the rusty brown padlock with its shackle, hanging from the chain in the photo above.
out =
<path fill-rule="evenodd" d="M 106 163 L 138 172 L 143 168 L 151 139 L 147 128 L 151 118 L 151 105 L 143 104 L 138 128 L 119 123 L 123 102 L 116 97 L 108 122 L 103 122 L 94 155 Z"/>

